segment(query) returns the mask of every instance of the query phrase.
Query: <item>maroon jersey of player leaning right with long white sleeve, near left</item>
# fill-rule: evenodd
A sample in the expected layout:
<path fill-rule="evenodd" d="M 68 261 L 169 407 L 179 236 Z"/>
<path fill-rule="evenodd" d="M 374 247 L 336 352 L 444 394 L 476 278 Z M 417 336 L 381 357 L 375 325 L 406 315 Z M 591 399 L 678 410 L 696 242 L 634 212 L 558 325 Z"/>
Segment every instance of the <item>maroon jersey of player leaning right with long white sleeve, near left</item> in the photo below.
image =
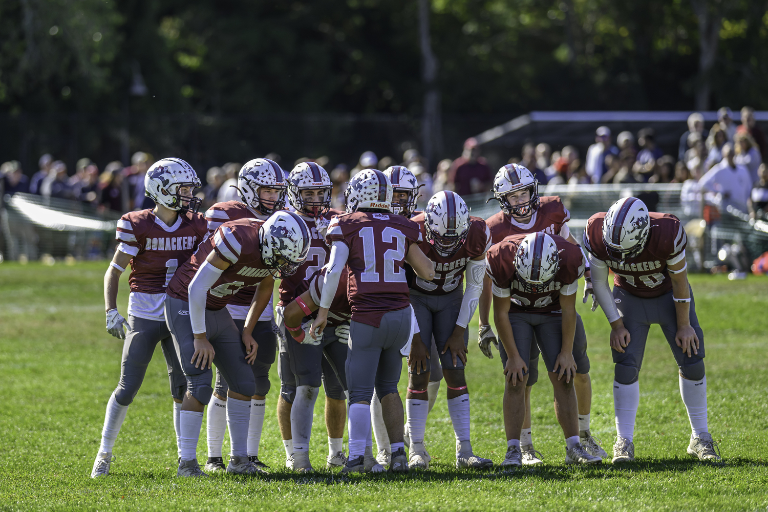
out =
<path fill-rule="evenodd" d="M 168 295 L 189 300 L 187 286 L 211 251 L 230 263 L 221 273 L 214 286 L 208 290 L 206 309 L 222 309 L 233 296 L 246 286 L 256 286 L 270 269 L 261 261 L 259 228 L 263 221 L 257 219 L 230 220 L 223 223 L 209 236 L 187 263 L 178 269 L 168 285 Z"/>

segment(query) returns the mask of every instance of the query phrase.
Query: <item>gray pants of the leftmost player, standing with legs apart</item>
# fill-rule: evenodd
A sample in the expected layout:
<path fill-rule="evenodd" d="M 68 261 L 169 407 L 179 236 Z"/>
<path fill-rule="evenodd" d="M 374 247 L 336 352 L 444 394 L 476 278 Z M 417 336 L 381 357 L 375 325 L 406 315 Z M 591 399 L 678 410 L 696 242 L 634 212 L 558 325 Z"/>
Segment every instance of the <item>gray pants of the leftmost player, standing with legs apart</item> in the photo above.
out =
<path fill-rule="evenodd" d="M 128 315 L 128 326 L 130 329 L 123 343 L 120 382 L 114 390 L 114 399 L 120 405 L 131 405 L 141 388 L 141 383 L 144 382 L 147 366 L 152 360 L 154 348 L 158 342 L 161 344 L 165 364 L 168 367 L 170 395 L 177 400 L 183 399 L 184 391 L 187 391 L 187 378 L 181 370 L 174 342 L 170 338 L 165 322 Z"/>

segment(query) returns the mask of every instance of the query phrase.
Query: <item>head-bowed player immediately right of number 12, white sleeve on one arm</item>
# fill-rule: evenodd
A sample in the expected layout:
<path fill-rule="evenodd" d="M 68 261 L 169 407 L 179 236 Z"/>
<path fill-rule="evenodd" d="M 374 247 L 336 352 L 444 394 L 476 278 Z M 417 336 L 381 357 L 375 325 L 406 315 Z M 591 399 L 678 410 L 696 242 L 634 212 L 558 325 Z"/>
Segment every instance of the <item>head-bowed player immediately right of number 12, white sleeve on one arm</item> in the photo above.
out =
<path fill-rule="evenodd" d="M 467 325 L 475 314 L 485 274 L 485 252 L 491 233 L 485 220 L 469 216 L 469 209 L 450 191 L 438 192 L 425 212 L 414 217 L 425 242 L 419 244 L 435 265 L 435 278 L 411 282 L 411 306 L 419 322 L 419 343 L 411 345 L 409 386 L 406 395 L 409 431 L 409 465 L 426 468 L 424 431 L 429 401 L 430 370 L 427 358 L 435 337 L 445 385 L 448 411 L 456 436 L 456 467 L 491 467 L 493 461 L 477 457 L 469 439 L 469 390 L 464 368 L 467 362 Z M 465 272 L 466 271 L 466 272 Z M 463 278 L 466 273 L 466 292 Z"/>

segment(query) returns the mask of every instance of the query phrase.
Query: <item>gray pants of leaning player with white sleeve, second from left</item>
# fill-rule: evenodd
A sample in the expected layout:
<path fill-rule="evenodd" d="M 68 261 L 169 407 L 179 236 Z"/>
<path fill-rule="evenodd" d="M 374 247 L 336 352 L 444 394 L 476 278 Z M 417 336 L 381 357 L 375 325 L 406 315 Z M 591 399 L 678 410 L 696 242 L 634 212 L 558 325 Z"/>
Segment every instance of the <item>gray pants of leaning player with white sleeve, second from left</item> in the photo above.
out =
<path fill-rule="evenodd" d="M 214 372 L 207 365 L 205 368 L 195 368 L 191 363 L 194 355 L 194 333 L 189 309 L 189 302 L 170 296 L 165 299 L 165 321 L 173 336 L 181 368 L 187 376 L 187 391 L 201 404 L 207 405 L 210 396 L 214 394 L 214 388 L 210 387 Z M 253 378 L 253 371 L 245 360 L 245 345 L 230 312 L 227 308 L 218 311 L 206 309 L 205 327 L 208 341 L 214 346 L 214 365 L 217 372 L 221 372 L 232 391 L 253 396 L 256 391 L 256 379 Z"/>

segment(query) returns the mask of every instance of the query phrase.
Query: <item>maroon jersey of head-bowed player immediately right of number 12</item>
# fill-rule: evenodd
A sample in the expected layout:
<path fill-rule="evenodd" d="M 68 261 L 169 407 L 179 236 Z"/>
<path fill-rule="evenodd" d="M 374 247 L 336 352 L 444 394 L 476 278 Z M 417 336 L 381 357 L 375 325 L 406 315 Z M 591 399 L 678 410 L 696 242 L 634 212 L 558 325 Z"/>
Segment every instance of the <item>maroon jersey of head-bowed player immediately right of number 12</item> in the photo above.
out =
<path fill-rule="evenodd" d="M 418 223 L 422 230 L 422 242 L 419 247 L 422 252 L 435 263 L 435 279 L 425 281 L 415 276 L 411 283 L 412 289 L 425 295 L 445 295 L 457 287 L 462 286 L 464 270 L 470 259 L 485 254 L 491 248 L 491 232 L 480 217 L 469 217 L 469 231 L 464 244 L 453 256 L 440 256 L 432 244 L 426 239 L 427 232 L 424 227 L 425 216 L 421 213 L 412 217 L 413 222 Z"/>

